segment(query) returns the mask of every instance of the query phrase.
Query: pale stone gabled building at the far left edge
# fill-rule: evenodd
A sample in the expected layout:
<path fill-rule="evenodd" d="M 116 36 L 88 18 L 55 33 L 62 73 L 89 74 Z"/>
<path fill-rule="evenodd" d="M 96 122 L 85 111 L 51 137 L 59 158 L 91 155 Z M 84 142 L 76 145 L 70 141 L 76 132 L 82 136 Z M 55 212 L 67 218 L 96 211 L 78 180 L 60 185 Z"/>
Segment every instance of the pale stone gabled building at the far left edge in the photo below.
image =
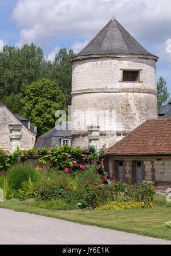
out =
<path fill-rule="evenodd" d="M 10 111 L 0 103 L 0 148 L 13 152 L 34 147 L 36 133 L 30 130 L 30 121 Z"/>

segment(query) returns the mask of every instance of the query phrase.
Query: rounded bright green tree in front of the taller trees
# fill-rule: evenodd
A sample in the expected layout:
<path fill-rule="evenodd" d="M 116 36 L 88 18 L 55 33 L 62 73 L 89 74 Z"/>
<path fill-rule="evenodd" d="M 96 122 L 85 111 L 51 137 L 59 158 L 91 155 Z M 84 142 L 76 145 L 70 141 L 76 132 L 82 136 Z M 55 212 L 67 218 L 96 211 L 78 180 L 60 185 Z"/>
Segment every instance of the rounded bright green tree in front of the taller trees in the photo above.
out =
<path fill-rule="evenodd" d="M 64 95 L 55 81 L 42 78 L 27 86 L 26 96 L 21 100 L 23 116 L 37 125 L 38 135 L 55 126 L 55 112 L 63 109 Z"/>

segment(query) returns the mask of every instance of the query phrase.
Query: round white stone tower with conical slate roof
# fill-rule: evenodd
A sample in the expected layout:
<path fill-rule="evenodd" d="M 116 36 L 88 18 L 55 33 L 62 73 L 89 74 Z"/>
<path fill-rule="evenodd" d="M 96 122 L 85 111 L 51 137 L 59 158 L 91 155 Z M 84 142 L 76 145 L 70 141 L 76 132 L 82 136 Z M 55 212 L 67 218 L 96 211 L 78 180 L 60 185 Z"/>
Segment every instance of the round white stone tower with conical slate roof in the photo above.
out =
<path fill-rule="evenodd" d="M 72 62 L 72 147 L 107 149 L 157 119 L 156 62 L 112 18 Z"/>

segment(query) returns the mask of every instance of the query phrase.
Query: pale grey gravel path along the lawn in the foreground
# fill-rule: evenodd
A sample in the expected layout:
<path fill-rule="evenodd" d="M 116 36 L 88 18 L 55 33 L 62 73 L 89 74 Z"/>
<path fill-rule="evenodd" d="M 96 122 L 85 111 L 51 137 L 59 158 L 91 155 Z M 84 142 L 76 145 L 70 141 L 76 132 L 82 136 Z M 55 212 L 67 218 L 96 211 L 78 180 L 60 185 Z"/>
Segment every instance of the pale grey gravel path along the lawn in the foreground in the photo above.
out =
<path fill-rule="evenodd" d="M 1 245 L 171 245 L 171 241 L 0 208 Z"/>

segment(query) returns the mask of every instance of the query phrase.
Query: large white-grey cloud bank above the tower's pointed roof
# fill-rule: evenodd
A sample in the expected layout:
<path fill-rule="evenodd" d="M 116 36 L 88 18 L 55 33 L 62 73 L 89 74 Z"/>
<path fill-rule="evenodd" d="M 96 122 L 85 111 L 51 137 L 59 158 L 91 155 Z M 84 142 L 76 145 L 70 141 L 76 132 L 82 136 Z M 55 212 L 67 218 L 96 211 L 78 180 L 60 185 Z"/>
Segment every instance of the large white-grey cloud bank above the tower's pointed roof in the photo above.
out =
<path fill-rule="evenodd" d="M 89 41 L 112 15 L 138 41 L 160 44 L 171 37 L 170 10 L 170 0 L 18 0 L 13 18 L 20 47 L 33 41 L 50 49 L 59 37 L 70 40 L 73 34 Z"/>

